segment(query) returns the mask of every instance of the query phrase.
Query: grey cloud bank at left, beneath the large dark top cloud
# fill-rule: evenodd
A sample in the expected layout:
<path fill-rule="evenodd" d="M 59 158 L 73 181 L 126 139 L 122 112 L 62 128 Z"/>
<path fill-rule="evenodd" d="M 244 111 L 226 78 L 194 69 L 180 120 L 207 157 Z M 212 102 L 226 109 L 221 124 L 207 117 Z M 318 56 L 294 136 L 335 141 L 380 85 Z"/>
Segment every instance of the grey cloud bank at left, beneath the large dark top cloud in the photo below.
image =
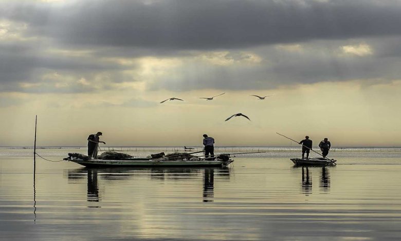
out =
<path fill-rule="evenodd" d="M 122 66 L 101 56 L 63 55 L 52 52 L 49 43 L 16 42 L 0 44 L 0 92 L 77 93 L 96 89 L 110 89 L 111 83 L 134 82 L 125 74 L 135 69 L 134 64 Z M 74 49 L 69 49 L 74 51 Z M 67 54 L 69 53 L 66 50 Z M 59 73 L 59 79 L 47 79 L 44 75 Z M 79 84 L 85 78 L 89 85 Z M 98 82 L 98 83 L 94 83 Z M 31 84 L 22 88 L 21 83 Z M 64 87 L 57 85 L 64 83 Z M 35 85 L 38 84 L 38 85 Z M 97 85 L 97 86 L 96 86 Z"/>

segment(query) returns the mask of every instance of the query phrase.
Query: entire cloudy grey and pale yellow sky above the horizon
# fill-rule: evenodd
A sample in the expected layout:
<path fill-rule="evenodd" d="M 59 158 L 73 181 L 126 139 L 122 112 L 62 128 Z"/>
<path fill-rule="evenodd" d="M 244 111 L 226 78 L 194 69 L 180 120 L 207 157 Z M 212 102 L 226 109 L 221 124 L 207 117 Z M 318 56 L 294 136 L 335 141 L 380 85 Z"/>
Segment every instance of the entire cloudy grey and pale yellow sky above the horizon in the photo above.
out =
<path fill-rule="evenodd" d="M 401 146 L 400 23 L 396 0 L 0 0 L 0 146 L 36 114 L 40 146 Z"/>

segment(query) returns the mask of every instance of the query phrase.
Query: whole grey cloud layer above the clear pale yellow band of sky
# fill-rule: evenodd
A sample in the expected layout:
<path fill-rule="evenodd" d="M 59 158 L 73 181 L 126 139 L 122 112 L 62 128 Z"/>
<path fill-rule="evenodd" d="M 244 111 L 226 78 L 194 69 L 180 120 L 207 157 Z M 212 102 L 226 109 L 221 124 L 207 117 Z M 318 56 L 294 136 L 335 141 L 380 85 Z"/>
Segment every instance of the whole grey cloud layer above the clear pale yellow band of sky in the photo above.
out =
<path fill-rule="evenodd" d="M 400 13 L 399 1 L 367 0 L 2 1 L 0 88 L 71 93 L 143 82 L 147 90 L 242 90 L 389 81 L 400 74 Z"/>

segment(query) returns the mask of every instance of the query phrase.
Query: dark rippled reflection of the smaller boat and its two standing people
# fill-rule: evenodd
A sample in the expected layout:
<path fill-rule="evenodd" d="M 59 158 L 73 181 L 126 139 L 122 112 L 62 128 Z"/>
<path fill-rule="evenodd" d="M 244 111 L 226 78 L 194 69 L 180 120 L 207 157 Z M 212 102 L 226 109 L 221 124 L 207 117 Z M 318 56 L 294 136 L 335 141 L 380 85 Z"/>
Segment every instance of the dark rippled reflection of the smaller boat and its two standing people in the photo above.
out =
<path fill-rule="evenodd" d="M 305 195 L 312 194 L 312 170 L 321 170 L 319 179 L 319 190 L 324 192 L 330 191 L 330 174 L 327 167 L 299 167 L 294 166 L 294 169 L 302 169 L 301 187 L 302 193 Z"/>

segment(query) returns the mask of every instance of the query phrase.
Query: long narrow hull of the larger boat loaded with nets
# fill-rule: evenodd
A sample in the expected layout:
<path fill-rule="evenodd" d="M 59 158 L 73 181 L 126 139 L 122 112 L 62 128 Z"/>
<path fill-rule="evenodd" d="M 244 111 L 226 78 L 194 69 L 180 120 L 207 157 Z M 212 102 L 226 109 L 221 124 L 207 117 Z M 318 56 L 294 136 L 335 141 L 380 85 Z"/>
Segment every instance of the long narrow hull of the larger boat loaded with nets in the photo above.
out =
<path fill-rule="evenodd" d="M 104 159 L 80 159 L 74 157 L 66 158 L 68 162 L 74 162 L 85 167 L 225 167 L 234 160 L 231 158 L 221 160 L 207 160 L 205 158 L 190 159 L 175 159 L 168 158 L 143 158 L 132 157 L 123 160 L 104 160 Z"/>

